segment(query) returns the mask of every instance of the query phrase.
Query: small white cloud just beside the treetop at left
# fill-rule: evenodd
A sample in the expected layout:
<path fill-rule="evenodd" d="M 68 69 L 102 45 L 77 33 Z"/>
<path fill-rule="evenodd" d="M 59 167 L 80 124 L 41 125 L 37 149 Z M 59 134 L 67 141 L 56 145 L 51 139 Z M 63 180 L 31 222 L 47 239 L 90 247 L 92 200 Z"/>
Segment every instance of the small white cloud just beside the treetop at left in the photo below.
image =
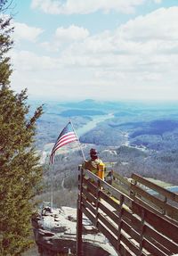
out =
<path fill-rule="evenodd" d="M 36 42 L 37 37 L 43 33 L 43 29 L 30 27 L 25 23 L 14 23 L 14 39 L 15 40 L 28 40 Z"/>

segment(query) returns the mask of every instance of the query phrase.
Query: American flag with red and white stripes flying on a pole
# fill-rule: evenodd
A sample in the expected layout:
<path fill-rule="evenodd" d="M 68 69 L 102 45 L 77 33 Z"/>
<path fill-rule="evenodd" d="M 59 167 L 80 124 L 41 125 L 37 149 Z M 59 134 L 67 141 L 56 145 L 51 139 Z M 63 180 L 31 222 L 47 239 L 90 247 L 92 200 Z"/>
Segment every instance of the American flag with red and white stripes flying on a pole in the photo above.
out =
<path fill-rule="evenodd" d="M 71 122 L 67 124 L 65 128 L 62 129 L 60 136 L 58 136 L 55 145 L 53 146 L 52 153 L 50 155 L 50 163 L 53 163 L 53 157 L 55 152 L 63 145 L 67 145 L 70 142 L 77 141 L 77 135 L 72 127 Z"/>

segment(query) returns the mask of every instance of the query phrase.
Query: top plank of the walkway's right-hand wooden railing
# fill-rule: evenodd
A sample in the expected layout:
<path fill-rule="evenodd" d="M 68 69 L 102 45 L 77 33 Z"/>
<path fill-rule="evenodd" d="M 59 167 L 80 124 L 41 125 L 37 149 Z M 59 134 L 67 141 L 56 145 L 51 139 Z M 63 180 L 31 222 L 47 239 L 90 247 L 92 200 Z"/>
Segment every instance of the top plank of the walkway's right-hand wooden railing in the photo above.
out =
<path fill-rule="evenodd" d="M 146 179 L 146 178 L 142 178 L 140 175 L 138 174 L 132 174 L 132 178 L 141 183 L 144 186 L 148 186 L 150 189 L 153 189 L 155 191 L 157 191 L 159 194 L 163 194 L 164 196 L 166 196 L 167 198 L 169 198 L 170 200 L 174 201 L 174 202 L 178 202 L 178 194 L 174 194 L 171 191 L 166 190 L 166 188 L 158 186 L 157 184 L 150 182 L 150 180 Z"/>

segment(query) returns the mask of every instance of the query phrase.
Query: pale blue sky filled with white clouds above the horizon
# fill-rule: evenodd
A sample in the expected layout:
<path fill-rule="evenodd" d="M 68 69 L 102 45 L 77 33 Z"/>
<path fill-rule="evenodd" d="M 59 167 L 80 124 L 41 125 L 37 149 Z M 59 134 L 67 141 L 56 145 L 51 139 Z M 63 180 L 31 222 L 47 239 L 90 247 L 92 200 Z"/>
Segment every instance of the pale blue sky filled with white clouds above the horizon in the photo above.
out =
<path fill-rule="evenodd" d="M 12 89 L 178 100 L 178 0 L 13 0 Z"/>

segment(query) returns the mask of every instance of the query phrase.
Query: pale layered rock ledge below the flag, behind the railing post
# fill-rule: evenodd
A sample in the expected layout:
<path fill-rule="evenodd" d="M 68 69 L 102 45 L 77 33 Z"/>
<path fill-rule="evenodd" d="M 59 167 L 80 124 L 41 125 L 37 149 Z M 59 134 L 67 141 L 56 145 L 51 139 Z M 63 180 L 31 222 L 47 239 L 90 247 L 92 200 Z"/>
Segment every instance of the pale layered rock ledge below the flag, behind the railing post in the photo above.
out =
<path fill-rule="evenodd" d="M 45 207 L 32 217 L 38 252 L 41 256 L 76 255 L 77 209 Z M 83 255 L 117 255 L 108 239 L 83 217 Z"/>

